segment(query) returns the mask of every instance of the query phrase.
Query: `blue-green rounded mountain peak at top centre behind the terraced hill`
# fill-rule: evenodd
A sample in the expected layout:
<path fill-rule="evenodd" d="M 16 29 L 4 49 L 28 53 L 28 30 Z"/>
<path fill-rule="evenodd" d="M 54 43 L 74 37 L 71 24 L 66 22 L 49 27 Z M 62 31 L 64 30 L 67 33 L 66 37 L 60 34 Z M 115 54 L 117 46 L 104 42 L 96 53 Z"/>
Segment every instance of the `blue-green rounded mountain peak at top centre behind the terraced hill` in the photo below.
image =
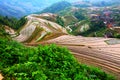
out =
<path fill-rule="evenodd" d="M 71 6 L 71 4 L 67 1 L 61 1 L 55 4 L 52 4 L 50 7 L 47 7 L 46 9 L 44 9 L 43 11 L 41 11 L 40 13 L 57 13 L 61 10 L 64 10 L 65 8 Z"/>

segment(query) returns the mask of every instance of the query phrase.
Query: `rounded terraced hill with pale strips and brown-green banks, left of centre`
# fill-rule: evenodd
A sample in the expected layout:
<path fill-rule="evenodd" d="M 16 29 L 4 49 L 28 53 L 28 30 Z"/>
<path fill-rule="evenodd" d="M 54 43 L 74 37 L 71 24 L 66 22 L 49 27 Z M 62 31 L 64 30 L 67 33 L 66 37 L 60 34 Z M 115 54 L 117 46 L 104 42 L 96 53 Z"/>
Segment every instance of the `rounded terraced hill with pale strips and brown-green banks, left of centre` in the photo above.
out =
<path fill-rule="evenodd" d="M 51 14 L 52 15 L 52 14 Z M 43 17 L 51 17 L 49 13 L 27 16 L 28 22 L 19 30 L 19 36 L 14 39 L 19 42 L 39 42 L 67 34 L 66 29 Z M 54 19 L 54 18 L 53 18 Z"/>

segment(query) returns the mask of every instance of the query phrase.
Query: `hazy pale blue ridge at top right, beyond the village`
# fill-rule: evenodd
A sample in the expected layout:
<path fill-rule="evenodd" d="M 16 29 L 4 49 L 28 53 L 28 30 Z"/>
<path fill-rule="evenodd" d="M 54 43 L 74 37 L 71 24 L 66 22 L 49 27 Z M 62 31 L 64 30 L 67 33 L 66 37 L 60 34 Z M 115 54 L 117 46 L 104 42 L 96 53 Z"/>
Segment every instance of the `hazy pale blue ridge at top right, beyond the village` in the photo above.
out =
<path fill-rule="evenodd" d="M 112 5 L 119 5 L 120 1 L 118 0 L 82 0 L 82 1 L 75 1 L 72 3 L 75 7 L 106 7 L 106 6 L 112 6 Z"/>

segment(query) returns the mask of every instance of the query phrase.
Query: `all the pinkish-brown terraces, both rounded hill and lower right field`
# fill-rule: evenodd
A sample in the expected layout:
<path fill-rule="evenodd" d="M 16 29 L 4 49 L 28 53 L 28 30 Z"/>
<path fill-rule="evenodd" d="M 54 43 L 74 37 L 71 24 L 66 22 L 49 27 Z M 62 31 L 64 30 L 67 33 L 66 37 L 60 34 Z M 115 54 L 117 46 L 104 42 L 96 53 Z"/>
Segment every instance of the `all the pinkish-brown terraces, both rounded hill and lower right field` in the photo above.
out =
<path fill-rule="evenodd" d="M 51 43 L 66 46 L 80 63 L 97 66 L 114 74 L 120 80 L 119 39 L 67 35 L 66 30 L 60 25 L 38 16 L 40 15 L 27 17 L 27 24 L 21 29 L 20 35 L 15 40 L 26 41 L 26 45 L 30 46 Z"/>

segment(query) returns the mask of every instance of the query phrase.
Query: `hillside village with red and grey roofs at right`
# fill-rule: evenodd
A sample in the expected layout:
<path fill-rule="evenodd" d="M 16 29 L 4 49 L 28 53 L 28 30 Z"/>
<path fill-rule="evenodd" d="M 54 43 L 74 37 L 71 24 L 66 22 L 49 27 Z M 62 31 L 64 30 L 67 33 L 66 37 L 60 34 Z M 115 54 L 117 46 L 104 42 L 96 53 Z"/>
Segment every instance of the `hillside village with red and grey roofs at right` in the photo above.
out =
<path fill-rule="evenodd" d="M 120 7 L 89 7 L 89 17 L 93 23 L 102 21 L 107 29 L 120 33 Z M 105 37 L 113 37 L 112 32 L 106 32 Z"/>

